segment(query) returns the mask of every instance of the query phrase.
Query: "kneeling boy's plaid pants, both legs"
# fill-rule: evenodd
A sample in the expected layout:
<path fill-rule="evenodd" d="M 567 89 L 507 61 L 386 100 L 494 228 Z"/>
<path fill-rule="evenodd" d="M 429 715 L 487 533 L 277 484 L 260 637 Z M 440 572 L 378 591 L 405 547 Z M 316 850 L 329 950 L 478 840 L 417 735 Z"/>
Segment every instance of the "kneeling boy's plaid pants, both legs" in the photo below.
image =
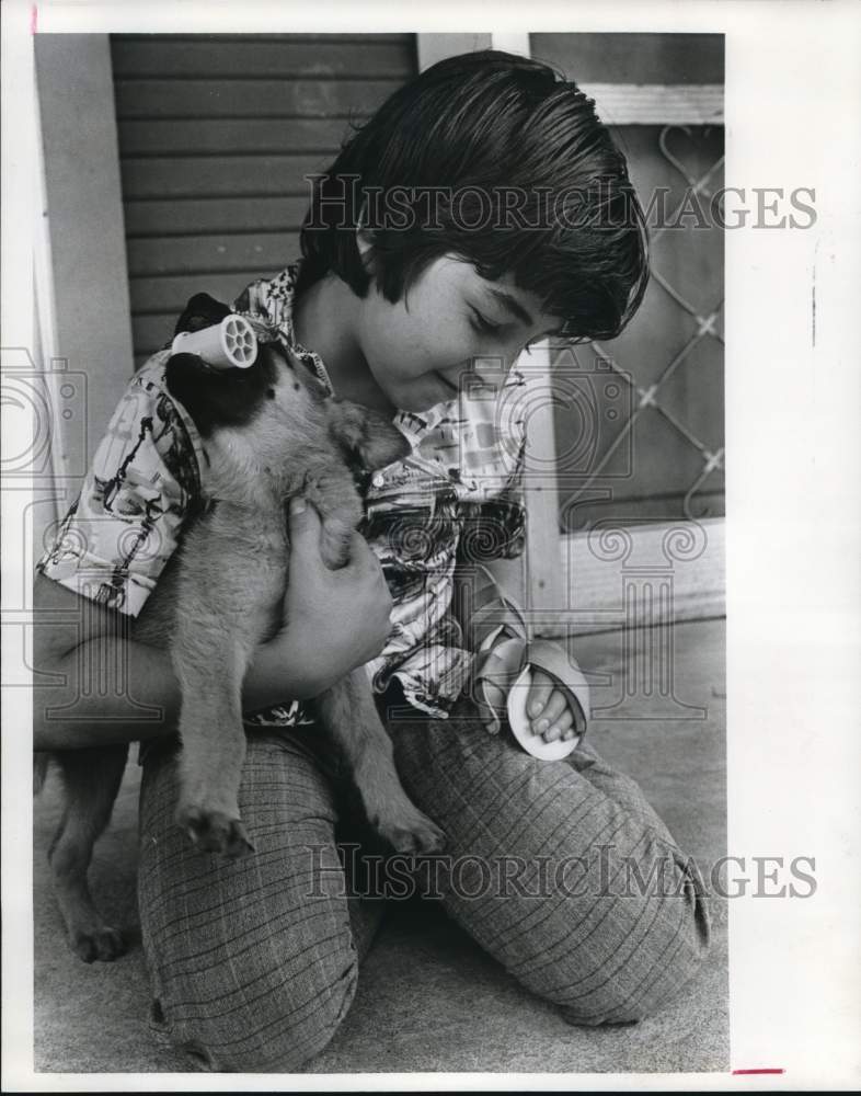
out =
<path fill-rule="evenodd" d="M 447 835 L 434 882 L 447 914 L 572 1023 L 659 1008 L 698 967 L 709 920 L 696 866 L 634 781 L 586 743 L 538 762 L 487 734 L 467 699 L 448 720 L 416 717 L 390 729 L 405 789 Z M 153 993 L 172 1041 L 209 1069 L 302 1069 L 349 1008 L 382 914 L 345 886 L 317 740 L 313 728 L 249 734 L 239 801 L 256 852 L 232 863 L 175 825 L 172 753 L 145 762 L 139 905 Z"/>

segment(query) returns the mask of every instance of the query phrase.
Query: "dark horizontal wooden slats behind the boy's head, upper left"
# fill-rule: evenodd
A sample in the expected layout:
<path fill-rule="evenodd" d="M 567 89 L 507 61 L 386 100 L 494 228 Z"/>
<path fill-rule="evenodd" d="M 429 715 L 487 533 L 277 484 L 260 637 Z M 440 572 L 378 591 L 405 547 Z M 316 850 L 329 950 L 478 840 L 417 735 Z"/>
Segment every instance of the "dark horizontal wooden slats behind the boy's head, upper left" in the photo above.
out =
<path fill-rule="evenodd" d="M 192 294 L 299 254 L 303 175 L 416 71 L 412 34 L 114 35 L 135 362 Z"/>

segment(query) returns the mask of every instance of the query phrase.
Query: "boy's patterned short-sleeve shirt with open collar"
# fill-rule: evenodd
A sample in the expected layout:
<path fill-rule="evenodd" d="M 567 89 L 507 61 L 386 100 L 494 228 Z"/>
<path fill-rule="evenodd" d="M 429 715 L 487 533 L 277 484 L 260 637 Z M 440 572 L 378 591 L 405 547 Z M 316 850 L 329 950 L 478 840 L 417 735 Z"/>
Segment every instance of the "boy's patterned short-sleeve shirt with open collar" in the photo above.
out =
<path fill-rule="evenodd" d="M 332 391 L 320 356 L 302 346 L 292 326 L 300 264 L 252 283 L 233 302 L 261 339 L 288 347 Z M 153 355 L 130 380 L 93 458 L 80 496 L 60 523 L 37 570 L 120 613 L 137 616 L 177 547 L 200 500 L 203 444 L 194 422 L 167 391 L 170 351 Z M 361 532 L 392 594 L 392 630 L 368 664 L 382 692 L 397 677 L 406 699 L 445 717 L 472 666 L 450 613 L 460 561 L 517 556 L 524 547 L 520 495 L 524 456 L 516 369 L 450 402 L 394 425 L 411 453 L 376 472 L 365 498 Z M 501 413 L 507 406 L 508 413 Z M 251 723 L 307 722 L 302 704 L 246 716 Z"/>

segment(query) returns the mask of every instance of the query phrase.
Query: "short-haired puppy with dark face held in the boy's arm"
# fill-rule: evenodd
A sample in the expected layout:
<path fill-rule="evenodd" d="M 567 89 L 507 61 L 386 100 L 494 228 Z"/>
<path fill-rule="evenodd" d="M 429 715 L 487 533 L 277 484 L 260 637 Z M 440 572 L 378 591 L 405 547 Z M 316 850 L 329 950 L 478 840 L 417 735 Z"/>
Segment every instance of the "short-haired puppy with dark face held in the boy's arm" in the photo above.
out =
<path fill-rule="evenodd" d="M 177 331 L 219 322 L 228 312 L 198 294 Z M 363 515 L 357 480 L 404 456 L 409 443 L 376 412 L 328 398 L 275 344 L 261 346 L 248 369 L 218 372 L 175 354 L 167 385 L 204 443 L 205 509 L 190 520 L 133 636 L 169 646 L 182 690 L 176 821 L 202 849 L 233 858 L 252 852 L 238 803 L 245 754 L 241 685 L 255 648 L 283 623 L 286 507 L 294 495 L 309 500 L 322 522 L 324 562 L 343 566 Z M 401 786 L 365 670 L 354 670 L 315 705 L 370 824 L 398 852 L 439 849 L 441 831 Z M 100 917 L 87 870 L 111 817 L 127 746 L 53 756 L 66 809 L 49 859 L 69 939 L 88 962 L 113 959 L 124 945 Z"/>

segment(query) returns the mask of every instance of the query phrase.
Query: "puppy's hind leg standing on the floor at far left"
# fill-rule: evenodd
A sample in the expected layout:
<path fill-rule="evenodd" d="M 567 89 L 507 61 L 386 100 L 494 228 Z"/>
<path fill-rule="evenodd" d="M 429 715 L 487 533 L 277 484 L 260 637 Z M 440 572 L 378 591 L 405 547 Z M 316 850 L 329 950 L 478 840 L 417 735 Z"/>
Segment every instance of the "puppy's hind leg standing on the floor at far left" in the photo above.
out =
<path fill-rule="evenodd" d="M 84 962 L 110 961 L 126 950 L 123 937 L 96 910 L 87 871 L 93 845 L 111 819 L 127 755 L 127 745 L 54 754 L 62 777 L 65 810 L 48 863 L 69 944 Z"/>

